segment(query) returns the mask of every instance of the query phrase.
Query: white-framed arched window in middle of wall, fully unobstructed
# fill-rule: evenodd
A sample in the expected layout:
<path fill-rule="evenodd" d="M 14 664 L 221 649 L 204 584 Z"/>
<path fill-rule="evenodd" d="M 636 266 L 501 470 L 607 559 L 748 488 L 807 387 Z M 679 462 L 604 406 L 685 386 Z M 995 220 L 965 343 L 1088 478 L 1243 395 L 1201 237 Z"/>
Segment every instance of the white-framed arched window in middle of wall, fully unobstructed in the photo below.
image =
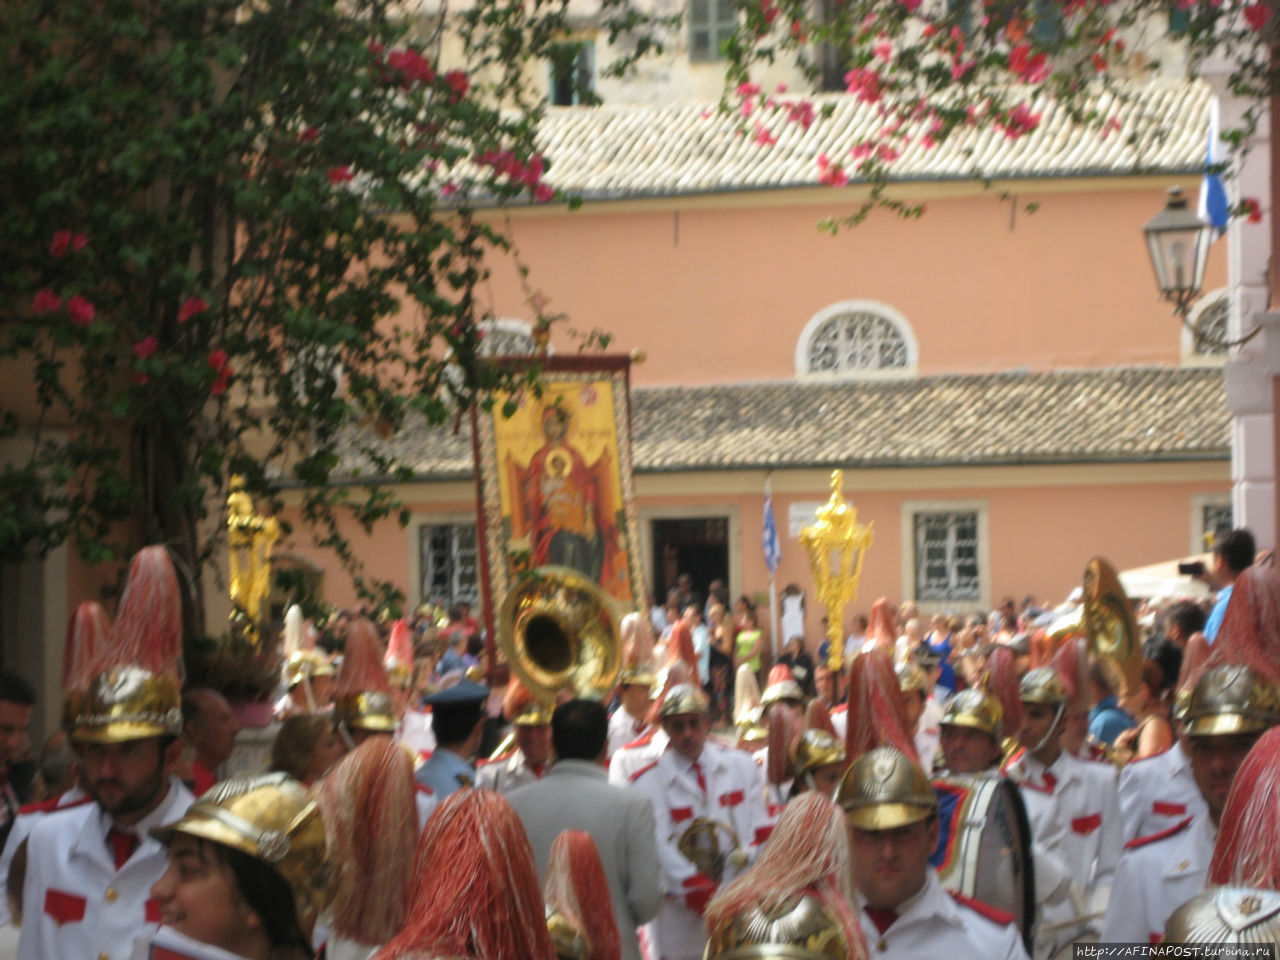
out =
<path fill-rule="evenodd" d="M 850 300 L 819 311 L 796 344 L 796 372 L 822 376 L 910 375 L 915 334 L 884 303 Z"/>

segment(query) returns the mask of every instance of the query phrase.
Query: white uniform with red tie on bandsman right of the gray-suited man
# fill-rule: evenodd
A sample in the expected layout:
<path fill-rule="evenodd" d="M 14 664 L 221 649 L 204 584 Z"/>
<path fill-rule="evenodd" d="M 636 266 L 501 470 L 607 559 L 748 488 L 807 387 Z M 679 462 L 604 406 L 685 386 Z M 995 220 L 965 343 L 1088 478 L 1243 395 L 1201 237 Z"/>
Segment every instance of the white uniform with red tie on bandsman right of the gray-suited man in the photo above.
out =
<path fill-rule="evenodd" d="M 635 790 L 653 806 L 658 829 L 658 859 L 666 881 L 666 899 L 650 925 L 650 956 L 654 960 L 701 960 L 707 929 L 701 909 L 713 890 L 712 881 L 680 852 L 680 837 L 699 818 L 723 824 L 732 831 L 746 863 L 755 859 L 773 829 L 764 808 L 764 776 L 750 754 L 722 748 L 710 741 L 699 758 L 707 792 L 698 786 L 691 764 L 675 750 L 632 777 Z M 722 854 L 730 854 L 733 840 L 717 829 Z M 732 881 L 746 869 L 726 856 L 721 883 Z"/>

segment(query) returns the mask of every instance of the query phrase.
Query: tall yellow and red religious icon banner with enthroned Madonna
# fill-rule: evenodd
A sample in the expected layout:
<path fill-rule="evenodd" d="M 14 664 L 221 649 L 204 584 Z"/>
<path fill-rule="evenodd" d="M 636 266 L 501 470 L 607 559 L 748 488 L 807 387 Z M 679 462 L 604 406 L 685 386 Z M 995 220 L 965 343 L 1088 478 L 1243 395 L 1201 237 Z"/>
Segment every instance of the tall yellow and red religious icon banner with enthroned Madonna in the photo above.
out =
<path fill-rule="evenodd" d="M 627 357 L 548 357 L 543 393 L 475 415 L 485 620 L 522 570 L 558 566 L 634 609 L 643 582 Z"/>

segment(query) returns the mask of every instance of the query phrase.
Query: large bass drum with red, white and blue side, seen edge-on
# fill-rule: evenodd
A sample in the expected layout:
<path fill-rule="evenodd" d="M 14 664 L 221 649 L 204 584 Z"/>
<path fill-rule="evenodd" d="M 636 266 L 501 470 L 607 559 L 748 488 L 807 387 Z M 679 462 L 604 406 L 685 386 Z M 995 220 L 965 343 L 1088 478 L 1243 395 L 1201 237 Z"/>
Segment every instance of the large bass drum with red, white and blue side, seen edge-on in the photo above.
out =
<path fill-rule="evenodd" d="M 1036 878 L 1032 829 L 1018 787 L 992 773 L 933 781 L 938 795 L 938 847 L 929 858 L 947 890 L 1014 915 L 1032 948 Z"/>

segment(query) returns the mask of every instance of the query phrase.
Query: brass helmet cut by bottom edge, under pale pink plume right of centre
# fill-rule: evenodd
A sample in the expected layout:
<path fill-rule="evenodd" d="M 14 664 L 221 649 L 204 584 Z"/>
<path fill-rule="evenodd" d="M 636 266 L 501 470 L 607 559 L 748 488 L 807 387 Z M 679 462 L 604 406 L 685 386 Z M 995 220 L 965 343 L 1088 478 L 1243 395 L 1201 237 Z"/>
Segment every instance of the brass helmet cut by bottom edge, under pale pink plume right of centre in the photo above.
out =
<path fill-rule="evenodd" d="M 818 897 L 805 893 L 780 913 L 760 906 L 717 925 L 707 943 L 707 960 L 845 960 L 854 945 Z"/>

